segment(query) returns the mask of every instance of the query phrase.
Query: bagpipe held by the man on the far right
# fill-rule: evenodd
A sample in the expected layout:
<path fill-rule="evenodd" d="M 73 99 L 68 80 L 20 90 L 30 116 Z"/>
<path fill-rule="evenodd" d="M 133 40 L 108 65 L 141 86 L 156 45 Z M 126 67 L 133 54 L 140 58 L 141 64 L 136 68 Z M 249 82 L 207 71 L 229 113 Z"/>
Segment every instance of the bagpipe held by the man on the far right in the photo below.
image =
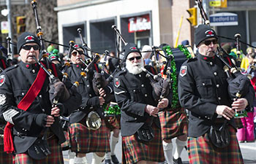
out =
<path fill-rule="evenodd" d="M 197 5 L 200 9 L 200 14 L 203 17 L 204 23 L 208 26 L 210 26 L 210 21 L 208 20 L 208 16 L 206 15 L 206 12 L 203 9 L 202 2 L 200 0 L 196 0 Z M 218 36 L 220 37 L 220 36 Z M 225 37 L 226 38 L 226 37 Z M 241 74 L 241 50 L 240 50 L 240 34 L 235 35 L 236 38 L 236 53 L 238 55 L 238 58 L 236 58 L 236 63 L 227 63 L 227 61 L 224 59 L 224 56 L 226 55 L 228 58 L 227 52 L 222 49 L 222 47 L 219 45 L 217 47 L 217 52 L 215 52 L 215 56 L 219 58 L 219 60 L 222 61 L 222 63 L 225 64 L 224 70 L 227 74 L 227 83 L 228 83 L 228 93 L 230 95 L 230 98 L 232 101 L 236 101 L 238 98 L 244 98 L 247 93 L 249 93 L 250 87 L 250 80 L 247 78 L 244 74 Z M 246 111 L 236 112 L 235 117 L 246 117 Z"/>

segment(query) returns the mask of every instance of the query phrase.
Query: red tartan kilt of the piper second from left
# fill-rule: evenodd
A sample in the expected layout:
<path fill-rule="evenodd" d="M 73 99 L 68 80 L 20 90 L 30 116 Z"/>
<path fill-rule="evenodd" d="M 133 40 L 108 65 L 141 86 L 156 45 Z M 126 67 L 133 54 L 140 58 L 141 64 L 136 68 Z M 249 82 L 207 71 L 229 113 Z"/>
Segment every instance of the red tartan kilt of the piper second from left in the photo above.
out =
<path fill-rule="evenodd" d="M 72 152 L 110 152 L 108 128 L 102 120 L 98 130 L 89 130 L 81 123 L 72 123 L 69 127 Z"/>

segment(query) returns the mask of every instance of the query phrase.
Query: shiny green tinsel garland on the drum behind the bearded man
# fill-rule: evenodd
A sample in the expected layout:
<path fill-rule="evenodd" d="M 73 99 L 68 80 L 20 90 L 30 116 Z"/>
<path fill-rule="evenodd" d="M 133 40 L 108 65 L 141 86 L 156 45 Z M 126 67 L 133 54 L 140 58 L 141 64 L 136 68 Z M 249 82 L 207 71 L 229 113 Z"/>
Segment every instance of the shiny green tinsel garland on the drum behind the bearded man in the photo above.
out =
<path fill-rule="evenodd" d="M 187 50 L 187 47 L 184 47 L 183 45 L 178 45 L 178 49 L 181 50 L 181 52 L 184 53 L 184 55 L 186 55 L 187 59 L 191 58 L 191 55 L 189 53 L 189 51 Z M 178 82 L 177 82 L 177 68 L 176 68 L 176 63 L 174 60 L 174 56 L 173 56 L 173 52 L 170 48 L 169 45 L 163 47 L 163 50 L 165 51 L 165 53 L 171 57 L 171 61 L 170 61 L 170 66 L 171 66 L 171 70 L 170 70 L 170 82 L 172 89 L 173 89 L 173 98 L 172 98 L 172 105 L 171 108 L 172 109 L 176 109 L 178 107 L 180 107 L 179 101 L 178 101 Z"/>

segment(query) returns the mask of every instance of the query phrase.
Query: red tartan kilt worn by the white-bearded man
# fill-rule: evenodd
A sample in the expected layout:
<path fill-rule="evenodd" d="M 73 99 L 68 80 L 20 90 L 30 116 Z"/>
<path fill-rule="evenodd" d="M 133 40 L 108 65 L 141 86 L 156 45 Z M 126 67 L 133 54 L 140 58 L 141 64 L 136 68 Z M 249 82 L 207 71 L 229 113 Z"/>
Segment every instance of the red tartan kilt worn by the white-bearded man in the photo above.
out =
<path fill-rule="evenodd" d="M 122 137 L 123 163 L 138 163 L 140 160 L 165 161 L 161 130 L 155 124 L 152 125 L 152 128 L 155 136 L 147 144 L 137 141 L 135 135 Z"/>

